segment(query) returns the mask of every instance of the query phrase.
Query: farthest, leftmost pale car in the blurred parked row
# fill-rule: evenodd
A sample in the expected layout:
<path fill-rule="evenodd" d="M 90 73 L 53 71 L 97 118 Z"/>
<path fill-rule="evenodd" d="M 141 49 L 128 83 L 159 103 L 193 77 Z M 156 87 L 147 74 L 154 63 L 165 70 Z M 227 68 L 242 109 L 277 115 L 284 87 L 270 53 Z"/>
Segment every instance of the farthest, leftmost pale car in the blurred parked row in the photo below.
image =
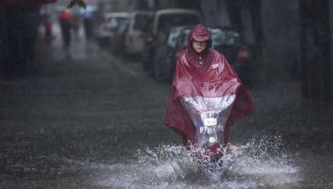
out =
<path fill-rule="evenodd" d="M 121 22 L 125 22 L 130 17 L 129 13 L 107 13 L 104 15 L 104 22 L 98 26 L 96 38 L 100 45 L 110 46 L 112 37 L 117 32 Z"/>

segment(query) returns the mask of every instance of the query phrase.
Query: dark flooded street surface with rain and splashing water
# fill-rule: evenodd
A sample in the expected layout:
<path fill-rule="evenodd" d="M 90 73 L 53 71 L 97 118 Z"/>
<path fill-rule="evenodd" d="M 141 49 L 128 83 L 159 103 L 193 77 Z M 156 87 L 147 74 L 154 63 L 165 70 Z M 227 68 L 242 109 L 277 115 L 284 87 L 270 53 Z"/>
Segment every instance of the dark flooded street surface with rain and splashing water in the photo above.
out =
<path fill-rule="evenodd" d="M 257 111 L 231 135 L 242 154 L 209 170 L 164 126 L 169 83 L 73 41 L 70 59 L 55 41 L 33 74 L 0 83 L 0 188 L 333 188 L 329 132 L 297 134 L 309 128 L 282 112 L 299 115 L 298 94 L 286 92 L 297 84 L 250 90 Z"/>

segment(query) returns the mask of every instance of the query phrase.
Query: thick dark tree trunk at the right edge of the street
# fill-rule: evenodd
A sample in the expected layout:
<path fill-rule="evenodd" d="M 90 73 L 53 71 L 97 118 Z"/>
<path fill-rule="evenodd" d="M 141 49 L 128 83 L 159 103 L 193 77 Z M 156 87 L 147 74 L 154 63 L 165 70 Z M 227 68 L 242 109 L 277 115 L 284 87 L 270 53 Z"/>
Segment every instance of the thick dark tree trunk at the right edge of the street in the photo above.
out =
<path fill-rule="evenodd" d="M 299 0 L 302 94 L 332 99 L 329 0 Z"/>

